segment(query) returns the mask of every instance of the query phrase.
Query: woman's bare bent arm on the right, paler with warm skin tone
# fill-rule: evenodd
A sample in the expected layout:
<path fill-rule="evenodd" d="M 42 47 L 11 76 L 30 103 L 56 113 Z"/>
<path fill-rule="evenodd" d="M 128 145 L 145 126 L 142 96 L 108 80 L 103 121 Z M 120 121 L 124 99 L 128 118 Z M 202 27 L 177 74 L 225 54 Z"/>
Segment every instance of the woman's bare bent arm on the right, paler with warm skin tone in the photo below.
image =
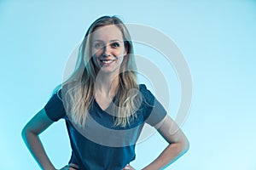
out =
<path fill-rule="evenodd" d="M 156 126 L 158 132 L 169 143 L 166 149 L 143 170 L 163 169 L 189 150 L 189 140 L 181 128 L 168 115 Z"/>

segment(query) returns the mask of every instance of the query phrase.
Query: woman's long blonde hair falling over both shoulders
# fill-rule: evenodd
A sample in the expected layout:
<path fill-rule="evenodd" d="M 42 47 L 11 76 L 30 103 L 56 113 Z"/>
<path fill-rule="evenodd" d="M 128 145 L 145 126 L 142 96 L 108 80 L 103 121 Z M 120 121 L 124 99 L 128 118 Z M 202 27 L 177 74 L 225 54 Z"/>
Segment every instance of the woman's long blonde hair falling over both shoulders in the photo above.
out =
<path fill-rule="evenodd" d="M 63 104 L 72 122 L 84 127 L 88 112 L 94 98 L 94 85 L 98 69 L 92 60 L 91 36 L 102 26 L 118 26 L 125 44 L 125 55 L 119 68 L 119 85 L 117 88 L 113 125 L 124 127 L 136 116 L 141 104 L 141 96 L 137 84 L 137 65 L 134 59 L 131 36 L 125 24 L 116 16 L 102 16 L 95 20 L 86 32 L 79 46 L 79 55 L 73 74 L 61 83 Z M 137 89 L 137 90 L 134 90 Z"/>

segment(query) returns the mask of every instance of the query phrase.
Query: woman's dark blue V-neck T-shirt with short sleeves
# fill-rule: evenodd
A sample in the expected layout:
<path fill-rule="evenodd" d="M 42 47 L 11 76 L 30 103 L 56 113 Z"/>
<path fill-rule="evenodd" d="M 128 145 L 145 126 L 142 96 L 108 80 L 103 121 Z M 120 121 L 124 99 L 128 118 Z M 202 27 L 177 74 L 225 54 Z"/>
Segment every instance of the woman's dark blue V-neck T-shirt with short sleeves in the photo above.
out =
<path fill-rule="evenodd" d="M 52 95 L 44 110 L 52 121 L 57 122 L 61 118 L 66 121 L 72 147 L 69 163 L 79 165 L 82 170 L 120 170 L 135 159 L 135 145 L 144 123 L 154 127 L 166 116 L 166 110 L 146 86 L 140 84 L 139 88 L 143 102 L 125 127 L 113 126 L 111 107 L 103 111 L 95 99 L 85 127 L 77 127 L 67 116 L 61 90 Z"/>

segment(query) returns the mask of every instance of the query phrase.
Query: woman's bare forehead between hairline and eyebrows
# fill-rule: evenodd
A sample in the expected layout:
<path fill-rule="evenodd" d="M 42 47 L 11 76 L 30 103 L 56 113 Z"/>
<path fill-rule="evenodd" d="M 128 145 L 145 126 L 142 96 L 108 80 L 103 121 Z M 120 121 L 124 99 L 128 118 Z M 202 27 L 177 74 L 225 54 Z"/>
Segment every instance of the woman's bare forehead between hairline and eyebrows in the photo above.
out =
<path fill-rule="evenodd" d="M 122 32 L 119 30 L 118 26 L 101 26 L 96 28 L 96 31 L 92 32 L 92 40 L 102 40 L 102 41 L 110 41 L 110 40 L 123 40 Z"/>

